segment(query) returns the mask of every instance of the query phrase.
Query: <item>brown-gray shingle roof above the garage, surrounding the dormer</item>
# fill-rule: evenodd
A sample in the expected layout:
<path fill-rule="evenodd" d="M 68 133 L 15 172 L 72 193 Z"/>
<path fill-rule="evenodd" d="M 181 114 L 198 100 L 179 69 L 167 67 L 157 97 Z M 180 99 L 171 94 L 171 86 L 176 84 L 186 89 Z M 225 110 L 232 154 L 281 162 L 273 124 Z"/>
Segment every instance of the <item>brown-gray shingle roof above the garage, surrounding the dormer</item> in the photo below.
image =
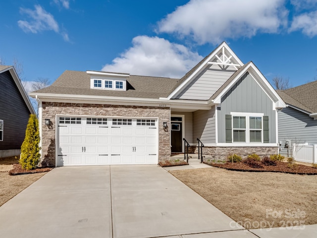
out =
<path fill-rule="evenodd" d="M 130 75 L 127 90 L 90 89 L 90 76 L 86 71 L 64 71 L 53 84 L 33 93 L 92 95 L 128 98 L 167 97 L 179 79 Z"/>

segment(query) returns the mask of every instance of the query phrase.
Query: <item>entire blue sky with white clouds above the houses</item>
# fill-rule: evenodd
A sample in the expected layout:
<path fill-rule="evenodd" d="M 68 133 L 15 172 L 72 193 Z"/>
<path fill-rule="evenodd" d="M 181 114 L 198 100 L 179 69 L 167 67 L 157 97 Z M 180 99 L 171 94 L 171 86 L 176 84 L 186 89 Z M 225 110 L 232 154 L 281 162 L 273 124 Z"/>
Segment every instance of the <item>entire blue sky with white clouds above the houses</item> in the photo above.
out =
<path fill-rule="evenodd" d="M 317 0 L 14 0 L 0 58 L 23 80 L 64 70 L 181 77 L 222 41 L 271 82 L 317 79 Z"/>

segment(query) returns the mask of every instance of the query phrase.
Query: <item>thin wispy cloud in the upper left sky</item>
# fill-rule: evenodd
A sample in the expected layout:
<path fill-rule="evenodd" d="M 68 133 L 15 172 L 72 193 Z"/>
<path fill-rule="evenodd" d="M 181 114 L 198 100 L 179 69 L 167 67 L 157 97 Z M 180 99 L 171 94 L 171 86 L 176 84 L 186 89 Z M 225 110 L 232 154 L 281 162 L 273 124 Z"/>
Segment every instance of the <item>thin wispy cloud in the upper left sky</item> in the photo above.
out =
<path fill-rule="evenodd" d="M 30 20 L 19 20 L 18 25 L 24 32 L 38 33 L 41 31 L 54 31 L 61 34 L 65 41 L 69 41 L 68 35 L 61 32 L 58 23 L 55 21 L 53 15 L 47 12 L 40 5 L 35 5 L 35 10 L 20 8 L 21 14 L 26 14 Z"/>

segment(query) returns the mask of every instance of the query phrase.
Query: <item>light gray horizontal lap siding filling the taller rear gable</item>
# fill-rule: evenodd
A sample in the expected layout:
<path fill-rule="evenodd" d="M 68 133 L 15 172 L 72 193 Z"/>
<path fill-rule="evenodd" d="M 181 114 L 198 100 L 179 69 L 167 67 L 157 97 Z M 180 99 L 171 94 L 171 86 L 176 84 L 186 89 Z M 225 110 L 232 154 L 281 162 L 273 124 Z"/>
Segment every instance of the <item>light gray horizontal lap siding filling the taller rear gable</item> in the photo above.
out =
<path fill-rule="evenodd" d="M 219 65 L 207 66 L 176 99 L 208 100 L 236 71 L 232 66 L 221 69 Z"/>

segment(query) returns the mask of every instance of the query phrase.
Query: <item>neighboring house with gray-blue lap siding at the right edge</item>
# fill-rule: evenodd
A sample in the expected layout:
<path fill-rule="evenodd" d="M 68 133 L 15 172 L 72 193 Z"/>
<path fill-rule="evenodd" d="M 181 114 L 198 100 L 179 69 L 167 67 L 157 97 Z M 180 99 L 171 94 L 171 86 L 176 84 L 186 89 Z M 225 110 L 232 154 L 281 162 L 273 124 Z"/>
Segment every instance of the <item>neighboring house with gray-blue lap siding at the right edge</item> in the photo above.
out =
<path fill-rule="evenodd" d="M 293 143 L 317 144 L 317 81 L 278 91 L 286 108 L 278 112 L 278 140 L 281 155 L 294 156 Z"/>

